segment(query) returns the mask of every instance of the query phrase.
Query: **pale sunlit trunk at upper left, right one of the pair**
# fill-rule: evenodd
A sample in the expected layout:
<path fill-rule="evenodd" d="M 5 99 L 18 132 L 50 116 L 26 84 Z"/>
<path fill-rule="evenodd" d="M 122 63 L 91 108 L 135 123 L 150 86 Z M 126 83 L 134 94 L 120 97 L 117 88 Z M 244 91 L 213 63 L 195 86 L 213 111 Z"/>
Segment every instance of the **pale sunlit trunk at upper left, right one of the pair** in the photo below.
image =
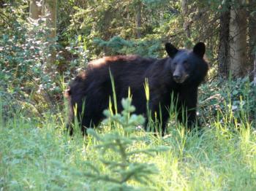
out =
<path fill-rule="evenodd" d="M 47 45 L 45 47 L 45 62 L 43 64 L 43 71 L 45 74 L 54 77 L 56 67 L 54 63 L 56 61 L 56 16 L 57 12 L 57 0 L 44 0 L 42 3 L 42 15 L 45 17 L 46 27 L 49 31 L 46 36 Z"/>

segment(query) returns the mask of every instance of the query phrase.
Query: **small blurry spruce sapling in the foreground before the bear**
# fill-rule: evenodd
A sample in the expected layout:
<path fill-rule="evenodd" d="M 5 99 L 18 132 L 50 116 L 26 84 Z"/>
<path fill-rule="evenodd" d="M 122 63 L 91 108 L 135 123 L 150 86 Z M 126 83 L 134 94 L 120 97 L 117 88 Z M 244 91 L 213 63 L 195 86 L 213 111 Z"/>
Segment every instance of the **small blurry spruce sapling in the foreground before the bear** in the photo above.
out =
<path fill-rule="evenodd" d="M 128 182 L 130 181 L 140 184 L 152 182 L 149 176 L 157 174 L 156 166 L 154 164 L 136 162 L 134 160 L 135 155 L 154 155 L 155 152 L 165 150 L 163 147 L 129 149 L 135 141 L 140 141 L 138 136 L 132 136 L 132 131 L 136 126 L 145 122 L 142 115 L 130 114 L 135 112 L 135 106 L 132 106 L 131 103 L 131 98 L 122 99 L 121 104 L 124 110 L 121 114 L 113 115 L 108 110 L 104 111 L 105 116 L 108 117 L 105 122 L 118 124 L 124 133 L 116 128 L 104 136 L 99 136 L 93 129 L 88 130 L 88 133 L 99 141 L 96 146 L 99 151 L 99 160 L 108 168 L 110 174 L 99 174 L 99 170 L 95 171 L 96 167 L 94 167 L 96 174 L 86 174 L 86 176 L 91 177 L 94 181 L 101 180 L 111 183 L 109 190 L 135 190 L 135 187 L 129 185 Z M 110 158 L 109 152 L 114 152 L 115 157 Z"/>

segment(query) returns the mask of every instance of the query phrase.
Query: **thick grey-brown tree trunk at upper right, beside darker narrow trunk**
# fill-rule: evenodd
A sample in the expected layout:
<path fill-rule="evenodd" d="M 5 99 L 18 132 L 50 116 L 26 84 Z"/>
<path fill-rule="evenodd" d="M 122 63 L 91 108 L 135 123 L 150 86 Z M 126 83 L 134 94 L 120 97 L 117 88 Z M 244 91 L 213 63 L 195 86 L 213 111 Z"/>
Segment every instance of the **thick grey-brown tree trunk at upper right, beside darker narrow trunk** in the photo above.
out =
<path fill-rule="evenodd" d="M 246 74 L 246 9 L 244 1 L 230 9 L 230 71 L 233 77 L 243 77 Z"/>

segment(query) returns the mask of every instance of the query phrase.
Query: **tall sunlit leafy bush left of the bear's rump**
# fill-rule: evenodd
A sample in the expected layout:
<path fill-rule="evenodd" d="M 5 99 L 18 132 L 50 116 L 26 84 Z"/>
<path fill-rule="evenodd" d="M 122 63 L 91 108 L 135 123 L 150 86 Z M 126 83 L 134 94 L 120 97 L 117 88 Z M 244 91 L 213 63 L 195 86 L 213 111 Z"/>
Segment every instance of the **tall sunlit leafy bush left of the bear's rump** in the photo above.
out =
<path fill-rule="evenodd" d="M 36 117 L 55 105 L 61 88 L 58 74 L 51 77 L 43 68 L 48 56 L 45 36 L 49 33 L 45 20 L 25 20 L 22 9 L 26 6 L 25 2 L 17 7 L 7 4 L 3 9 L 10 23 L 0 23 L 6 28 L 0 34 L 0 95 L 6 108 L 4 114 L 25 109 L 31 114 L 37 111 Z M 53 68 L 56 69 L 56 65 Z"/>

